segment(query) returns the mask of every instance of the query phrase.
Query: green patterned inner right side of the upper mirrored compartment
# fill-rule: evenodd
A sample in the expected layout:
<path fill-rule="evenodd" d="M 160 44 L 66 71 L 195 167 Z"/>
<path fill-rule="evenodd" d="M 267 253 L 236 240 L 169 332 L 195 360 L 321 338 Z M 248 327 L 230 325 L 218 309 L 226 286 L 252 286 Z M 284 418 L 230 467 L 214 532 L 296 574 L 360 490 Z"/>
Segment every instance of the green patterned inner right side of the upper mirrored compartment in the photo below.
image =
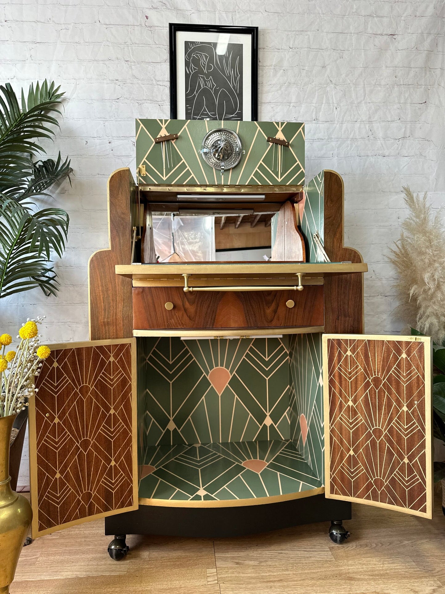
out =
<path fill-rule="evenodd" d="M 320 172 L 304 186 L 304 203 L 300 203 L 300 228 L 306 244 L 307 262 L 324 262 L 320 248 L 313 236 L 319 232 L 322 245 L 325 242 L 325 172 Z"/>

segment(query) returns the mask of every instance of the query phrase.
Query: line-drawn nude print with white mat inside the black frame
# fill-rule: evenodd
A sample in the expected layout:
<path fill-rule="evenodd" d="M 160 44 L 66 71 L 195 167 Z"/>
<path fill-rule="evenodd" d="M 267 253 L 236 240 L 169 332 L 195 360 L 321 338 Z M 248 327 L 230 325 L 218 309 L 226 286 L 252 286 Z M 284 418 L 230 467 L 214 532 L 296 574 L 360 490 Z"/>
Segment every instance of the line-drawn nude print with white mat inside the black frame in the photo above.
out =
<path fill-rule="evenodd" d="M 177 31 L 177 118 L 252 119 L 252 37 Z"/>

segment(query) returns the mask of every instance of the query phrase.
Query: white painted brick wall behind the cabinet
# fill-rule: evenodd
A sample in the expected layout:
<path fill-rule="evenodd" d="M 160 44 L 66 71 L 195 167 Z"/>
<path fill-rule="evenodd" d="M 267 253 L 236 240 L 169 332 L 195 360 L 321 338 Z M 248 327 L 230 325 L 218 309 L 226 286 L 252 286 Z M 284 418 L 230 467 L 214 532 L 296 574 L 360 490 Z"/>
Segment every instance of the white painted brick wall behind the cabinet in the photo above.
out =
<path fill-rule="evenodd" d="M 259 26 L 259 119 L 306 122 L 307 179 L 323 168 L 344 177 L 346 243 L 370 268 L 366 330 L 399 331 L 385 258 L 405 216 L 400 189 L 427 190 L 436 207 L 445 197 L 444 13 L 441 0 L 2 4 L 0 83 L 62 84 L 61 132 L 47 147 L 71 156 L 75 176 L 57 195 L 71 217 L 59 296 L 2 300 L 1 330 L 45 314 L 48 341 L 88 338 L 87 261 L 107 245 L 107 178 L 135 169 L 136 116 L 169 117 L 168 24 L 181 22 Z"/>

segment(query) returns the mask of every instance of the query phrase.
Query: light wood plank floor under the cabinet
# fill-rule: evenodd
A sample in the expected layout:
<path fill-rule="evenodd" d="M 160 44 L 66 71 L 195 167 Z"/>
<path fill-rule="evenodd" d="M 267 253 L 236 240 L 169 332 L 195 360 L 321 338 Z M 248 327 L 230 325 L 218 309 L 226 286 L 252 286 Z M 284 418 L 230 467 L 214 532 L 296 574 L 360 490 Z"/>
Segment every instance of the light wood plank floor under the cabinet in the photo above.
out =
<path fill-rule="evenodd" d="M 107 554 L 103 520 L 43 536 L 23 549 L 12 594 L 445 593 L 445 517 L 353 505 L 344 545 L 328 524 L 245 538 L 129 536 L 125 560 Z"/>

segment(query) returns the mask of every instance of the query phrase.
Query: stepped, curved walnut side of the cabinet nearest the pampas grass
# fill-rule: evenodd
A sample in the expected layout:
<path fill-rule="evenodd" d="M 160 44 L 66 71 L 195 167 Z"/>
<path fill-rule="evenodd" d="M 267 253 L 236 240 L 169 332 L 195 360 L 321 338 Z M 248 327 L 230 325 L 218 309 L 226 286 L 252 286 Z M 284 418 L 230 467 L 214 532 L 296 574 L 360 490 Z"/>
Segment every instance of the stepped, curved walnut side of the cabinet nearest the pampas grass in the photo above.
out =
<path fill-rule="evenodd" d="M 360 252 L 344 245 L 343 179 L 325 169 L 325 251 L 332 262 L 363 262 Z M 363 273 L 325 277 L 325 332 L 364 332 Z"/>

